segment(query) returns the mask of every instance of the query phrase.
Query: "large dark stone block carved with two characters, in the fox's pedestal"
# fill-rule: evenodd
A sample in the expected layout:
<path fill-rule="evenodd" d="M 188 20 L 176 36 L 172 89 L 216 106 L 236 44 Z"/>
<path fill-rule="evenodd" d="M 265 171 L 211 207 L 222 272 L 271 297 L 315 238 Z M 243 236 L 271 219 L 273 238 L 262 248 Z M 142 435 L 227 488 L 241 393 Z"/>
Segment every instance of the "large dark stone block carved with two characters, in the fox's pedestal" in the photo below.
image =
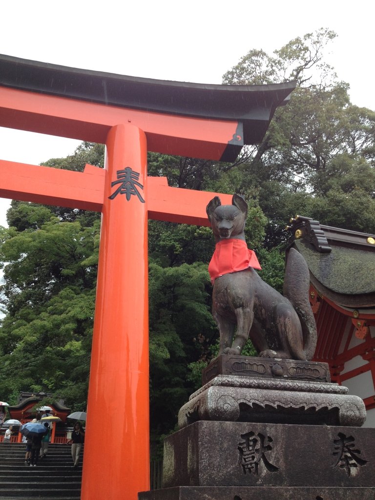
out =
<path fill-rule="evenodd" d="M 374 462 L 375 428 L 200 421 L 164 440 L 163 487 L 346 486 L 352 490 L 374 485 Z M 314 499 L 322 496 L 316 491 Z M 235 495 L 252 498 L 235 490 L 225 498 Z M 354 498 L 358 497 L 352 495 L 350 500 Z"/>

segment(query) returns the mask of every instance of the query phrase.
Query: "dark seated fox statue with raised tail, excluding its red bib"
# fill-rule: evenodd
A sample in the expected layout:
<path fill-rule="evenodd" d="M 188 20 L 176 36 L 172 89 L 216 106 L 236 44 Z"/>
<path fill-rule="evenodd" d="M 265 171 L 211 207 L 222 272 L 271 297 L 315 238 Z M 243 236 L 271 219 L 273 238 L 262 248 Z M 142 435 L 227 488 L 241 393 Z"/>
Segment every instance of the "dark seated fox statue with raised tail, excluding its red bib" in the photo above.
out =
<path fill-rule="evenodd" d="M 238 242 L 247 248 L 244 235 L 247 203 L 241 196 L 234 194 L 231 205 L 221 205 L 220 198 L 215 196 L 206 206 L 206 212 L 216 250 L 221 243 L 227 243 L 224 240 L 230 239 L 233 241 L 229 243 Z M 222 254 L 227 256 L 228 252 Z M 265 283 L 251 266 L 257 262 L 254 255 L 248 262 L 249 266 L 244 268 L 247 264 L 242 263 L 239 265 L 242 270 L 233 272 L 227 262 L 224 269 L 229 272 L 220 274 L 216 269 L 212 314 L 220 333 L 218 354 L 239 355 L 250 338 L 261 357 L 311 359 L 317 334 L 308 299 L 306 261 L 297 250 L 289 249 L 283 295 Z"/>

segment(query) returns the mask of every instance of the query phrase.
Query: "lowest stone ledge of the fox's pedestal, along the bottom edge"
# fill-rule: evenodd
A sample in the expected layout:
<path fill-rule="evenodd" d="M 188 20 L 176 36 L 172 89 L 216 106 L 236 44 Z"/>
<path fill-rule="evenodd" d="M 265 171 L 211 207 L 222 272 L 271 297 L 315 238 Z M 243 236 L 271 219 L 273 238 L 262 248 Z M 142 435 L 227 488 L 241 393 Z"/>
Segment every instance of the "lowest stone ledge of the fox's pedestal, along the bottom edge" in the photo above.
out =
<path fill-rule="evenodd" d="M 138 500 L 373 500 L 375 488 L 180 486 L 138 493 Z"/>

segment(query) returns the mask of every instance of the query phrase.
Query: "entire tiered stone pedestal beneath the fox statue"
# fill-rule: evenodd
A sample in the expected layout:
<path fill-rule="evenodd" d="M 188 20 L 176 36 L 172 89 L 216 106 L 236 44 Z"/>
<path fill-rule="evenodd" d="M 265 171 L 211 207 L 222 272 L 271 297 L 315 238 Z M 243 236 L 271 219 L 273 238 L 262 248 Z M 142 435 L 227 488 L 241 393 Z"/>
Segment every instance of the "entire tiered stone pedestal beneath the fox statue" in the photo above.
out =
<path fill-rule="evenodd" d="M 375 429 L 326 363 L 219 356 L 139 500 L 375 500 Z"/>

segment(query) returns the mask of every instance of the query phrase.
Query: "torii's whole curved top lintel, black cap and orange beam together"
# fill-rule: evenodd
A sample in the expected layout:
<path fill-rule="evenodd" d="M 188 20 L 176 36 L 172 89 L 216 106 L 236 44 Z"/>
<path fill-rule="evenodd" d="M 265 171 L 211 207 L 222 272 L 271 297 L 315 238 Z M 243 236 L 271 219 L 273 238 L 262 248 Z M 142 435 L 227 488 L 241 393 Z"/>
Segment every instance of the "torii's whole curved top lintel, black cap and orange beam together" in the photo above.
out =
<path fill-rule="evenodd" d="M 149 151 L 233 161 L 261 141 L 295 84 L 156 80 L 0 54 L 0 126 L 105 143 L 112 126 L 131 123 Z"/>

